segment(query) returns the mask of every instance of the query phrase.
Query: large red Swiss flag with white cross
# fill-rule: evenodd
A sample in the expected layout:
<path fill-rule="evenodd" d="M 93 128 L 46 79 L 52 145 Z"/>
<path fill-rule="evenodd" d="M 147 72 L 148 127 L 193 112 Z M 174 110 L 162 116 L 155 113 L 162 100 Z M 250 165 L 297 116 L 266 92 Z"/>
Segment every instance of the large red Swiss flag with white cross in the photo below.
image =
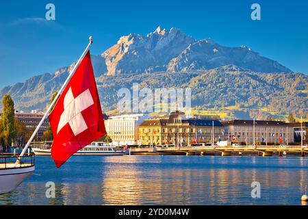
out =
<path fill-rule="evenodd" d="M 106 134 L 90 51 L 60 95 L 49 120 L 53 131 L 51 155 L 57 168 Z"/>

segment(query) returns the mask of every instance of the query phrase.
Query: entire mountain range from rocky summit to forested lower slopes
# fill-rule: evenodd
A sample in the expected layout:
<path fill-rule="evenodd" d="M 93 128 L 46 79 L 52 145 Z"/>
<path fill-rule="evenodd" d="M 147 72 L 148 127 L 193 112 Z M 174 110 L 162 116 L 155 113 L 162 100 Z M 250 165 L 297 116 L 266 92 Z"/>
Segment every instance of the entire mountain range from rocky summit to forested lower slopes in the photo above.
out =
<path fill-rule="evenodd" d="M 210 38 L 195 40 L 177 28 L 157 27 L 146 36 L 123 36 L 101 55 L 91 55 L 91 59 L 105 111 L 116 109 L 119 88 L 131 88 L 137 82 L 149 88 L 192 87 L 197 92 L 192 93 L 192 103 L 201 110 L 239 105 L 240 110 L 253 116 L 258 107 L 277 104 L 281 96 L 285 104 L 278 103 L 280 106 L 277 110 L 272 107 L 272 112 L 307 114 L 307 75 L 293 73 L 251 48 L 224 47 Z M 16 110 L 44 111 L 74 65 L 5 86 L 0 98 L 9 93 Z M 231 114 L 233 111 L 229 110 Z M 264 116 L 269 114 L 264 112 Z"/>

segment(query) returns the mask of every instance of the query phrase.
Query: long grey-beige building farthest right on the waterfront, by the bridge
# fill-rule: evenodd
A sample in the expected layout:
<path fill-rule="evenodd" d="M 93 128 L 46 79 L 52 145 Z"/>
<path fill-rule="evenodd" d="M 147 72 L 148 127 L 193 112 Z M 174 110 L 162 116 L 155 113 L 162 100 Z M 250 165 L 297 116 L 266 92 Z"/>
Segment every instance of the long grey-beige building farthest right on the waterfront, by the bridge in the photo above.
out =
<path fill-rule="evenodd" d="M 232 120 L 222 124 L 230 141 L 253 144 L 253 120 Z M 236 140 L 232 140 L 232 136 Z M 279 136 L 282 136 L 282 142 L 279 141 Z M 281 121 L 255 120 L 255 142 L 289 144 L 294 142 L 294 130 L 288 123 Z"/>

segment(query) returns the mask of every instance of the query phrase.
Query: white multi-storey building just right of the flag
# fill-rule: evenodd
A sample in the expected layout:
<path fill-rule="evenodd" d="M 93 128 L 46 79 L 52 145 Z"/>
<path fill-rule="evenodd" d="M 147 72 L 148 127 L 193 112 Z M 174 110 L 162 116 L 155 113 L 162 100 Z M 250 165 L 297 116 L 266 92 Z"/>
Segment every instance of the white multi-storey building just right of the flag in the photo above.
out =
<path fill-rule="evenodd" d="M 146 119 L 152 118 L 146 114 L 130 114 L 111 116 L 105 120 L 107 135 L 118 145 L 138 145 L 139 125 Z"/>

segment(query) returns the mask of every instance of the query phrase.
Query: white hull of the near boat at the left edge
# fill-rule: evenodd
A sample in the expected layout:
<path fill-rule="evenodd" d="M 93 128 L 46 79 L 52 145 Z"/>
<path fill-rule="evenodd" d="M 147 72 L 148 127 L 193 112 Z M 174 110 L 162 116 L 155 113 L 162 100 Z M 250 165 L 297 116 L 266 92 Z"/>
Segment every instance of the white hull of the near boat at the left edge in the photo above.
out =
<path fill-rule="evenodd" d="M 35 166 L 0 168 L 0 194 L 15 190 L 34 170 Z"/>

